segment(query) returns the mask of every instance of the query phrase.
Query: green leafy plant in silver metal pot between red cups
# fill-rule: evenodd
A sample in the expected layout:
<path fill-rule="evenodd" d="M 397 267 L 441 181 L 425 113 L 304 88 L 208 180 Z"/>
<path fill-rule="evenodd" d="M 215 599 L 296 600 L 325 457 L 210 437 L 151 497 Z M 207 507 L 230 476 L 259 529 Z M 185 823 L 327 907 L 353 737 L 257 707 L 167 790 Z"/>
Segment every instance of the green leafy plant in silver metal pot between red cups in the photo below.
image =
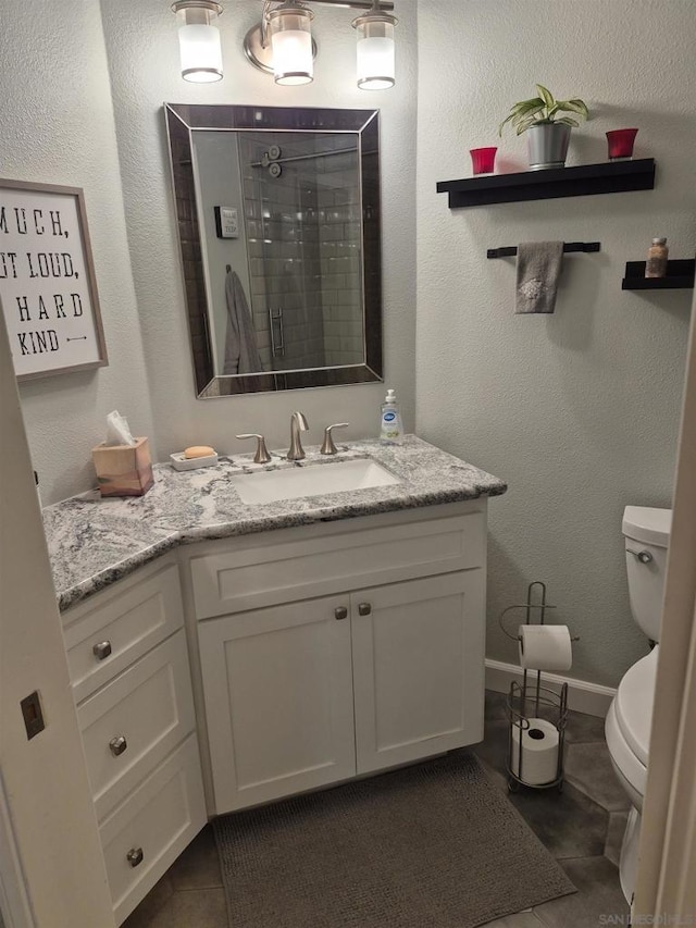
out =
<path fill-rule="evenodd" d="M 589 115 L 582 100 L 557 100 L 556 97 L 536 85 L 538 97 L 515 103 L 509 114 L 500 123 L 498 134 L 502 135 L 506 123 L 512 123 L 518 135 L 527 134 L 527 153 L 530 169 L 539 171 L 543 168 L 562 168 L 566 164 L 570 131 L 577 126 L 577 120 L 561 113 L 575 113 L 583 120 Z"/>

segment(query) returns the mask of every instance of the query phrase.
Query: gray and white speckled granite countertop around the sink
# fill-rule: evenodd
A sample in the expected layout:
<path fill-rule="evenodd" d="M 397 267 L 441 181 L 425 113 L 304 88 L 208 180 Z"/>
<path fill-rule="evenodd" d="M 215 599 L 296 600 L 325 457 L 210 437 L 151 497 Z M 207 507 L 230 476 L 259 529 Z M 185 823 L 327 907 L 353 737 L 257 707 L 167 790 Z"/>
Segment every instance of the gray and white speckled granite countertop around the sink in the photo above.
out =
<path fill-rule="evenodd" d="M 414 435 L 400 445 L 347 442 L 336 457 L 320 455 L 319 446 L 304 450 L 300 463 L 276 453 L 269 465 L 254 465 L 251 455 L 221 458 L 216 467 L 190 471 L 154 465 L 154 486 L 145 496 L 101 499 L 95 491 L 47 506 L 44 527 L 59 608 L 69 608 L 181 544 L 499 496 L 507 490 L 497 477 Z M 372 458 L 400 482 L 259 506 L 243 503 L 228 482 L 245 471 L 331 467 L 353 458 Z"/>

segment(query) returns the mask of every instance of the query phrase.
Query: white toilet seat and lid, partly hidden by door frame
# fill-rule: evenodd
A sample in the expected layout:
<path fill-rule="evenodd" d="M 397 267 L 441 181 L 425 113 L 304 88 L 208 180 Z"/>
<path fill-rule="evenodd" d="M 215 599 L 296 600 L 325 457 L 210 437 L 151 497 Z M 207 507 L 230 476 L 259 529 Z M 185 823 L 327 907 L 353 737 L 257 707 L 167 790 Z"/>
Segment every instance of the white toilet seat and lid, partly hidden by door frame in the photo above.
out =
<path fill-rule="evenodd" d="M 609 707 L 605 733 L 611 760 L 638 811 L 647 781 L 658 648 L 631 667 Z"/>

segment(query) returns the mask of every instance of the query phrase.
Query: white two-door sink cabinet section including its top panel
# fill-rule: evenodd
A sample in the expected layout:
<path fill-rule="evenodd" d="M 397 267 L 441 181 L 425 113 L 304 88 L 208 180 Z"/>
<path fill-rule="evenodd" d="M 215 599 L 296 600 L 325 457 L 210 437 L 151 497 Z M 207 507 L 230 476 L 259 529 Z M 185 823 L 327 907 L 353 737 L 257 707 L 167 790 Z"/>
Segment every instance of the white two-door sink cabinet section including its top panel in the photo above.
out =
<path fill-rule="evenodd" d="M 197 548 L 217 814 L 483 737 L 485 498 Z"/>

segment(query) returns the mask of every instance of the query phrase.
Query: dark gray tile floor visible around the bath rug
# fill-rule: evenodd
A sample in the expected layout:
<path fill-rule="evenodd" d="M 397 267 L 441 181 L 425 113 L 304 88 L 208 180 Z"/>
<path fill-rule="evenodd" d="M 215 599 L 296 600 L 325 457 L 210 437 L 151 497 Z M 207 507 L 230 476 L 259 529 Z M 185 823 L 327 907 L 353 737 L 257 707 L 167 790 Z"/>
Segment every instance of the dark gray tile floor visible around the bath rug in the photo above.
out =
<path fill-rule="evenodd" d="M 473 750 L 506 793 L 507 744 L 505 695 L 488 692 L 485 740 Z M 566 745 L 566 783 L 561 793 L 521 788 L 508 795 L 577 892 L 492 921 L 486 928 L 627 925 L 629 906 L 619 886 L 617 863 L 629 802 L 611 768 L 604 720 L 570 713 Z M 228 928 L 217 853 L 209 826 L 123 928 Z"/>

